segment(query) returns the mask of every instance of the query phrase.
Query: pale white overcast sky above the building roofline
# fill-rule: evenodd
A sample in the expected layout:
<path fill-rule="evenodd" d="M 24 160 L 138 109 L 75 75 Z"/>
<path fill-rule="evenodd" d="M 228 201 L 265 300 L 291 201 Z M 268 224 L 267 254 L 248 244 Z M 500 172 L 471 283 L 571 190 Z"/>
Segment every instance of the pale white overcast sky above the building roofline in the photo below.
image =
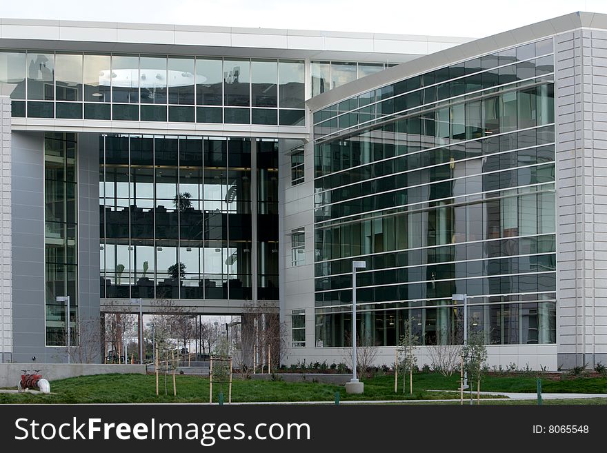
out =
<path fill-rule="evenodd" d="M 27 8 L 24 8 L 27 6 Z M 0 0 L 0 17 L 484 37 L 606 0 Z"/>

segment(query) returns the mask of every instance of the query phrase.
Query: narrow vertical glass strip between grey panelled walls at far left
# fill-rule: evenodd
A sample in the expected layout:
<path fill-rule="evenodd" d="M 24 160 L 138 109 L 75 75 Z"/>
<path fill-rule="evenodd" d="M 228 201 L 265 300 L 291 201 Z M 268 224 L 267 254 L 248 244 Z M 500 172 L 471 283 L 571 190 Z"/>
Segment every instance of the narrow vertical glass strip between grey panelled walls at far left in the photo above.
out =
<path fill-rule="evenodd" d="M 46 345 L 67 344 L 70 297 L 71 344 L 78 339 L 77 134 L 44 135 L 44 248 Z"/>

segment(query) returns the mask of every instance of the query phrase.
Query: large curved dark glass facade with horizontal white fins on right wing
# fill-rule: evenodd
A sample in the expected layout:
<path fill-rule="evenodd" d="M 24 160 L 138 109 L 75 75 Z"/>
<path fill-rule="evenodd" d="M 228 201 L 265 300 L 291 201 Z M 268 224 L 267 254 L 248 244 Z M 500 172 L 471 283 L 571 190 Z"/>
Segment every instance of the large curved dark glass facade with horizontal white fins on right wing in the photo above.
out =
<path fill-rule="evenodd" d="M 350 336 L 352 259 L 368 344 L 453 341 L 452 294 L 488 344 L 555 343 L 553 71 L 546 39 L 314 113 L 317 346 Z"/>

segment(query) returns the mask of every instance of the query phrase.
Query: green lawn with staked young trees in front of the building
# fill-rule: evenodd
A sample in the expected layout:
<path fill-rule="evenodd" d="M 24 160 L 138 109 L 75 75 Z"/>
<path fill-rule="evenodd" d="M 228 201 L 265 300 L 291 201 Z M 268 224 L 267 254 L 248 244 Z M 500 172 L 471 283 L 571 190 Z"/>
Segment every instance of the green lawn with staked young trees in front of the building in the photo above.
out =
<path fill-rule="evenodd" d="M 0 394 L 0 403 L 208 403 L 209 381 L 200 376 L 177 375 L 177 396 L 172 395 L 172 377 L 168 376 L 168 395 L 164 394 L 164 377 L 160 378 L 160 396 L 155 394 L 155 376 L 143 374 L 99 374 L 52 381 L 52 394 Z M 334 401 L 339 392 L 340 401 L 411 399 L 457 399 L 452 392 L 459 387 L 459 375 L 442 376 L 437 373 L 413 375 L 413 394 L 409 394 L 408 376 L 406 392 L 399 380 L 398 392 L 394 392 L 394 376 L 377 376 L 366 379 L 365 392 L 361 395 L 346 394 L 345 387 L 313 382 L 287 383 L 284 381 L 252 381 L 235 379 L 232 384 L 233 402 L 257 401 Z M 213 385 L 214 401 L 218 401 L 219 385 Z M 448 390 L 450 392 L 429 392 Z M 536 377 L 533 375 L 484 377 L 481 390 L 493 392 L 535 392 Z M 543 392 L 548 393 L 607 393 L 607 378 L 543 379 Z M 228 400 L 228 385 L 223 385 Z M 489 399 L 490 396 L 484 398 Z M 497 403 L 497 401 L 491 401 Z M 526 404 L 526 401 L 509 403 Z M 546 400 L 546 404 L 553 401 Z M 567 404 L 570 400 L 566 401 Z M 572 402 L 573 403 L 573 402 Z M 581 404 L 607 403 L 606 400 L 581 400 Z"/>

